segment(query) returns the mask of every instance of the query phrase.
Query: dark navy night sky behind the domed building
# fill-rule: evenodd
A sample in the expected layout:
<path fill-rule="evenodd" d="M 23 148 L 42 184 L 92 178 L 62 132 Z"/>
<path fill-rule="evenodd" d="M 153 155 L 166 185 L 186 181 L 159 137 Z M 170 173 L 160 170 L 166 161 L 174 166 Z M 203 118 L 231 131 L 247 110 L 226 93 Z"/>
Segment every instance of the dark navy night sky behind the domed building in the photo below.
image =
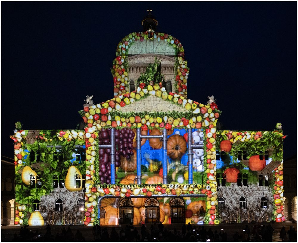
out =
<path fill-rule="evenodd" d="M 296 2 L 1 2 L 1 150 L 13 158 L 24 129 L 73 129 L 86 95 L 113 98 L 118 42 L 142 31 L 148 7 L 157 31 L 178 38 L 190 74 L 188 98 L 214 95 L 227 130 L 283 125 L 284 158 L 296 154 Z"/>

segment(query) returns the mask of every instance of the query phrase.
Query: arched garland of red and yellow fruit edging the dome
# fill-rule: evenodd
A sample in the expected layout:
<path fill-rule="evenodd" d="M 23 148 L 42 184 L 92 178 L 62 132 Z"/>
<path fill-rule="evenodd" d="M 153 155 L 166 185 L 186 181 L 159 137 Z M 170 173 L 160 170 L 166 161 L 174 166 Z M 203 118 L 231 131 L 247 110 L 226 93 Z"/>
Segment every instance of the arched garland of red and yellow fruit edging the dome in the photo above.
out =
<path fill-rule="evenodd" d="M 135 41 L 144 41 L 148 39 L 147 32 L 133 32 L 122 39 L 118 44 L 116 51 L 116 58 L 113 61 L 114 71 L 114 97 L 122 94 L 129 93 L 128 87 L 128 72 L 127 63 L 125 63 L 125 57 L 128 54 L 129 46 Z M 184 60 L 184 48 L 180 41 L 171 35 L 164 33 L 154 33 L 153 39 L 159 41 L 165 41 L 169 45 L 173 46 L 178 54 L 178 62 L 176 70 L 176 92 L 182 96 L 187 95 L 187 77 L 189 74 L 189 68 L 187 67 L 187 61 Z"/>

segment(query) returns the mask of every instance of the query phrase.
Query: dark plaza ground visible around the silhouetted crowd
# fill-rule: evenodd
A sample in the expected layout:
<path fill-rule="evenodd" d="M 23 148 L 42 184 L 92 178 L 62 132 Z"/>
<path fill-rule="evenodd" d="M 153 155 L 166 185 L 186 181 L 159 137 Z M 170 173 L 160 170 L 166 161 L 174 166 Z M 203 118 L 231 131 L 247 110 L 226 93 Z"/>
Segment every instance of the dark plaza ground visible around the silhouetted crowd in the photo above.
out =
<path fill-rule="evenodd" d="M 233 241 L 233 235 L 238 232 L 241 233 L 243 231 L 243 229 L 245 228 L 245 225 L 249 225 L 249 227 L 252 229 L 254 227 L 254 225 L 260 225 L 261 223 L 235 223 L 235 224 L 220 224 L 220 225 L 204 225 L 206 230 L 209 230 L 209 228 L 212 229 L 212 231 L 214 232 L 215 230 L 217 230 L 218 232 L 224 228 L 228 234 L 228 242 L 229 241 Z M 267 225 L 268 223 L 266 223 L 265 225 Z M 150 230 L 150 225 L 151 224 L 147 224 L 146 228 Z M 117 226 L 109 226 L 108 228 L 108 232 L 111 232 L 112 227 L 115 227 L 117 232 L 119 232 L 119 230 L 121 228 L 125 228 L 126 225 L 117 225 Z M 283 223 L 274 223 L 272 224 L 272 227 L 274 228 L 274 232 L 273 232 L 273 241 L 277 242 L 277 241 L 281 241 L 279 238 L 279 233 L 281 228 L 285 226 L 286 231 L 289 230 L 290 226 L 293 226 L 296 231 L 297 231 L 297 224 L 293 224 L 292 222 L 283 222 Z M 56 233 L 61 233 L 63 227 L 66 228 L 66 230 L 68 229 L 68 227 L 70 227 L 72 229 L 72 232 L 75 234 L 77 230 L 80 230 L 80 232 L 82 232 L 83 236 L 85 237 L 86 242 L 91 242 L 94 240 L 93 235 L 92 235 L 92 227 L 87 227 L 87 226 L 83 226 L 83 225 L 52 225 L 51 226 L 51 234 L 54 235 L 54 237 L 56 236 Z M 105 226 L 102 226 L 105 227 Z M 135 226 L 136 228 L 138 228 L 139 234 L 141 234 L 141 225 L 139 226 Z M 177 230 L 181 230 L 182 224 L 172 224 L 172 225 L 164 225 L 165 228 L 167 229 L 174 229 L 176 228 Z M 13 239 L 13 235 L 19 234 L 20 231 L 20 226 L 1 226 L 1 241 L 11 241 Z M 39 232 L 44 235 L 46 233 L 46 226 L 29 226 L 28 227 L 29 230 L 32 230 L 33 232 L 35 232 L 35 230 L 39 230 Z"/>

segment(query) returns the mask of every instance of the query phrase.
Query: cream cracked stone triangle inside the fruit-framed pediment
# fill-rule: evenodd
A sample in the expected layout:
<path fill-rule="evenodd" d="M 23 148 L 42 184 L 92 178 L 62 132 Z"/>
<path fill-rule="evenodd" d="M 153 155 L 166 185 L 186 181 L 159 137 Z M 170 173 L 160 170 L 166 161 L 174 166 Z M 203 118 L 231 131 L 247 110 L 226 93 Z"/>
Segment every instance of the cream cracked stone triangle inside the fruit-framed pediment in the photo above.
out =
<path fill-rule="evenodd" d="M 142 111 L 180 111 L 187 112 L 185 108 L 180 105 L 173 104 L 169 101 L 163 100 L 161 97 L 157 96 L 148 96 L 145 99 L 141 99 L 139 101 L 135 101 L 130 105 L 125 105 L 121 108 L 121 112 L 142 112 Z"/>

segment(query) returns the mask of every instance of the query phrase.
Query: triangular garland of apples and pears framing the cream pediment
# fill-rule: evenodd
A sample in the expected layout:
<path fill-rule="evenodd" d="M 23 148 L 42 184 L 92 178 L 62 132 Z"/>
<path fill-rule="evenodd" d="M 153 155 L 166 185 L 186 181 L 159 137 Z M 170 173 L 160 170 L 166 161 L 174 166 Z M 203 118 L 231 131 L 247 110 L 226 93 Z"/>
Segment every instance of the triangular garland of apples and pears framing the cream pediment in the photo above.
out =
<path fill-rule="evenodd" d="M 151 86 L 151 85 L 149 85 Z M 152 87 L 152 86 L 151 86 Z M 217 110 L 217 106 L 214 105 L 203 105 L 201 103 L 195 102 L 190 99 L 185 99 L 183 96 L 179 94 L 173 94 L 167 91 L 160 91 L 160 93 L 154 90 L 154 93 L 148 93 L 148 89 L 137 89 L 134 92 L 121 95 L 117 98 L 113 98 L 106 102 L 102 102 L 97 105 L 92 105 L 90 107 L 84 107 L 84 110 L 80 111 L 81 116 L 88 127 L 95 126 L 97 130 L 101 128 L 109 128 L 109 127 L 148 127 L 153 129 L 153 127 L 172 129 L 174 127 L 180 128 L 201 128 L 201 127 L 209 127 L 210 125 L 216 125 L 217 119 L 220 115 L 220 111 Z M 179 117 L 176 116 L 176 119 L 173 117 L 164 116 L 165 113 L 154 113 L 156 117 L 150 116 L 148 114 L 142 114 L 138 116 L 138 113 L 121 113 L 121 107 L 125 105 L 129 105 L 134 102 L 134 98 L 139 99 L 141 96 L 145 97 L 148 95 L 161 96 L 162 99 L 169 100 L 177 105 L 184 107 L 188 110 L 189 115 L 187 117 Z M 178 98 L 179 96 L 179 98 Z M 133 98 L 134 97 L 134 98 Z M 169 99 L 170 97 L 170 99 Z M 173 101 L 172 101 L 173 100 Z M 128 116 L 129 114 L 134 114 Z M 184 114 L 184 113 L 177 113 Z M 121 117 L 119 116 L 121 115 Z M 189 118 L 189 119 L 188 119 Z M 191 119 L 190 119 L 191 118 Z"/>

